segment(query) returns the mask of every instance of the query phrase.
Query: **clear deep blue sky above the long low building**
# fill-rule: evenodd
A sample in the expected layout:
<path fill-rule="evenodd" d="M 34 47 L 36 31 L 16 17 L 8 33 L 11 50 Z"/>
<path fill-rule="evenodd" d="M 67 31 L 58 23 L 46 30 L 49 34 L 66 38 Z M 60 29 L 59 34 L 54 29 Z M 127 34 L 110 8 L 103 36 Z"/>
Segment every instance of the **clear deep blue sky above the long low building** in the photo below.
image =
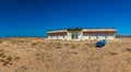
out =
<path fill-rule="evenodd" d="M 0 0 L 0 37 L 67 27 L 116 27 L 118 35 L 131 35 L 131 0 Z"/>

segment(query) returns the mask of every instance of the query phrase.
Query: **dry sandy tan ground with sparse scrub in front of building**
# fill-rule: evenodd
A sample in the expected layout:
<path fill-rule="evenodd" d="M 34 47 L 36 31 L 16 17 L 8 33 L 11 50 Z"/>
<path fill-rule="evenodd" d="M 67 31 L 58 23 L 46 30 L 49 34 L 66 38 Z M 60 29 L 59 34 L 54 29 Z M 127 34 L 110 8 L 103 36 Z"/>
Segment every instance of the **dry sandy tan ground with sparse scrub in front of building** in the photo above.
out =
<path fill-rule="evenodd" d="M 1 38 L 0 72 L 131 72 L 131 38 L 93 41 Z"/>

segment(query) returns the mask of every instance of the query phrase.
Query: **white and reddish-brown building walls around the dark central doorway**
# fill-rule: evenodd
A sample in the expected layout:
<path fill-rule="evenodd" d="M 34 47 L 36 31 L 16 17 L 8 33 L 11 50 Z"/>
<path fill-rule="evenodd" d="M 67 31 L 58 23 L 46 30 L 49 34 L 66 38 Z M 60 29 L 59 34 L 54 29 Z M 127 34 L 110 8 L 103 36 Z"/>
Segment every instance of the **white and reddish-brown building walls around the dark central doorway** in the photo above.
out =
<path fill-rule="evenodd" d="M 78 38 L 72 39 L 72 34 L 78 34 Z M 92 40 L 92 39 L 116 39 L 116 31 L 82 31 L 82 32 L 58 32 L 49 33 L 48 39 L 67 40 Z"/>

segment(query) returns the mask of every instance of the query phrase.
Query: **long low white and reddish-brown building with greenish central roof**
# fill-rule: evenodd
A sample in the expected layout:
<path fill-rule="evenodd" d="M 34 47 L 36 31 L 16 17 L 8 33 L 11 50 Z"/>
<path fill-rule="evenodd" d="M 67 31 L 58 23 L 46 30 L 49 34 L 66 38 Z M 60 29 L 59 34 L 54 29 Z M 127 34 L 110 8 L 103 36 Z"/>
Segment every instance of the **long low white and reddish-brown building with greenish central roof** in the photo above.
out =
<path fill-rule="evenodd" d="M 92 39 L 116 39 L 115 28 L 68 28 L 47 32 L 48 39 L 62 40 L 92 40 Z"/>

